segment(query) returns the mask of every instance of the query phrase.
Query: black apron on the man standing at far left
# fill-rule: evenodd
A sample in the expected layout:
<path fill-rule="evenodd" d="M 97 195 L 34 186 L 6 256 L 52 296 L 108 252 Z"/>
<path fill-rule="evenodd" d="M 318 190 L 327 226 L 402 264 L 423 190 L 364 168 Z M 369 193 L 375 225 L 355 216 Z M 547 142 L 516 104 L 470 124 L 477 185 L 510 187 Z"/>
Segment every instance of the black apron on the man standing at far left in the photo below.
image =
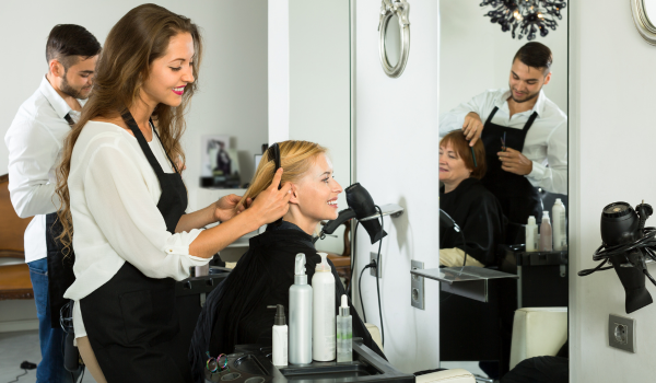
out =
<path fill-rule="evenodd" d="M 71 127 L 75 124 L 69 114 L 63 116 L 63 119 Z M 46 214 L 46 262 L 48 263 L 48 298 L 50 302 L 50 325 L 52 328 L 61 328 L 59 324 L 59 311 L 69 302 L 68 299 L 63 298 L 63 293 L 75 281 L 75 275 L 73 274 L 73 263 L 75 262 L 73 246 L 71 244 L 69 249 L 65 252 L 63 245 L 57 239 L 61 235 L 63 227 L 59 222 L 57 213 L 51 212 Z"/>

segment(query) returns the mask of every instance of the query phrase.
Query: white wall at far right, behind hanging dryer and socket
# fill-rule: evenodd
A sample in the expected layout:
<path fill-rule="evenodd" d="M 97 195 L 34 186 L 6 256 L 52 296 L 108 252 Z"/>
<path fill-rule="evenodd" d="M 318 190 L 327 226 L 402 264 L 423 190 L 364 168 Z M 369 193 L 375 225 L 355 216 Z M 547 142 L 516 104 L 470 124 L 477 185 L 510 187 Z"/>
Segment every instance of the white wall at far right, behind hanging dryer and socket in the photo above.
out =
<path fill-rule="evenodd" d="M 629 1 L 570 4 L 570 381 L 653 382 L 656 304 L 628 315 L 624 290 L 612 270 L 588 277 L 574 271 L 597 264 L 591 257 L 601 243 L 599 217 L 607 204 L 656 204 L 656 177 L 649 170 L 656 160 L 656 47 L 637 34 Z M 648 270 L 655 275 L 656 266 Z M 648 280 L 647 289 L 656 297 Z M 637 353 L 608 346 L 611 313 L 637 321 Z"/>

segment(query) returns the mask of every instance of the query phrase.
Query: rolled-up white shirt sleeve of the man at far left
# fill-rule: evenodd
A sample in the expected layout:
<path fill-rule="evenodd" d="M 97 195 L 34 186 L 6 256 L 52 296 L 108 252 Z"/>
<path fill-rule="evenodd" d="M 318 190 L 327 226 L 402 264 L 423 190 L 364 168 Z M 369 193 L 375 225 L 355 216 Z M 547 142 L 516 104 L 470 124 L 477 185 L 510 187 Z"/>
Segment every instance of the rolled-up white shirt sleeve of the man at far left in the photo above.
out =
<path fill-rule="evenodd" d="M 59 198 L 49 179 L 60 146 L 38 121 L 20 118 L 5 137 L 9 149 L 9 194 L 21 218 L 57 211 Z"/>

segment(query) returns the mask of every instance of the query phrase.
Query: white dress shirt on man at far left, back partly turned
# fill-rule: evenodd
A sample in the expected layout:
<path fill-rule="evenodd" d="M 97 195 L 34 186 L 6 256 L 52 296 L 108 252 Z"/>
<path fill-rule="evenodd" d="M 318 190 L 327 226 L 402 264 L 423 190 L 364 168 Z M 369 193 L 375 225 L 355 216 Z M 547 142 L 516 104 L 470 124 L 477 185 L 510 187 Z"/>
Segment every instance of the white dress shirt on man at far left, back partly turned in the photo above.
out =
<path fill-rule="evenodd" d="M 84 105 L 83 100 L 78 100 Z M 80 113 L 61 98 L 46 77 L 14 117 L 4 143 L 9 149 L 9 193 L 21 218 L 34 216 L 24 235 L 25 262 L 46 257 L 46 216 L 59 208 L 55 169 L 63 139 L 71 131 L 63 117 Z"/>

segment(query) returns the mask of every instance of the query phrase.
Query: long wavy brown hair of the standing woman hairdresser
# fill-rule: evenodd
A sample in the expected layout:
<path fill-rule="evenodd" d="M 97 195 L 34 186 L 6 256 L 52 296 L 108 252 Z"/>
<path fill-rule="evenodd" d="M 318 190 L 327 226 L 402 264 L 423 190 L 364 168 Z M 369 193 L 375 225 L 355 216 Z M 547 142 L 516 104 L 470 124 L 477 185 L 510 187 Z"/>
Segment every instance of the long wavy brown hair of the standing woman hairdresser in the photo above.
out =
<path fill-rule="evenodd" d="M 58 216 L 63 232 L 59 236 L 66 252 L 70 251 L 73 224 L 70 209 L 68 176 L 75 141 L 86 123 L 97 117 L 114 118 L 129 109 L 140 96 L 151 72 L 151 63 L 166 54 L 171 37 L 189 33 L 194 38 L 195 82 L 185 86 L 183 102 L 173 107 L 159 104 L 152 115 L 162 146 L 172 159 L 185 162 L 180 138 L 185 131 L 185 113 L 197 91 L 198 68 L 202 56 L 199 28 L 189 19 L 155 4 L 142 4 L 122 16 L 109 31 L 97 63 L 94 90 L 82 109 L 80 120 L 63 141 L 61 162 L 57 169 L 57 189 L 61 205 Z"/>

